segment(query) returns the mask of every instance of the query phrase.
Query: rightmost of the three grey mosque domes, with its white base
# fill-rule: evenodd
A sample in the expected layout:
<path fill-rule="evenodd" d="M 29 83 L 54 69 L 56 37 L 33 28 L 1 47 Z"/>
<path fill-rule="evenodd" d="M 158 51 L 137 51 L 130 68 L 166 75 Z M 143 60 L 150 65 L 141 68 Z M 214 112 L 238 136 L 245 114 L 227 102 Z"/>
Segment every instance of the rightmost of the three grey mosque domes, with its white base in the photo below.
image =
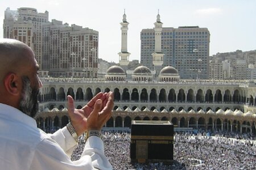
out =
<path fill-rule="evenodd" d="M 172 66 L 164 67 L 158 76 L 160 82 L 175 82 L 180 79 L 178 71 Z"/>

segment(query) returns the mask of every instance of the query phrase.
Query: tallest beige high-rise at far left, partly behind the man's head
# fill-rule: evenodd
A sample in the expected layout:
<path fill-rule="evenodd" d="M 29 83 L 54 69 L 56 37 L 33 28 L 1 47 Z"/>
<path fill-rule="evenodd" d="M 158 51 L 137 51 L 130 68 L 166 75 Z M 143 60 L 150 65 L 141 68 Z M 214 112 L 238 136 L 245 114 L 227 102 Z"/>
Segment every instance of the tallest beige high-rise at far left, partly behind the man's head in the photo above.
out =
<path fill-rule="evenodd" d="M 35 8 L 7 8 L 3 20 L 3 37 L 19 40 L 30 46 L 42 67 L 42 24 L 46 22 L 48 11 L 38 13 Z"/>

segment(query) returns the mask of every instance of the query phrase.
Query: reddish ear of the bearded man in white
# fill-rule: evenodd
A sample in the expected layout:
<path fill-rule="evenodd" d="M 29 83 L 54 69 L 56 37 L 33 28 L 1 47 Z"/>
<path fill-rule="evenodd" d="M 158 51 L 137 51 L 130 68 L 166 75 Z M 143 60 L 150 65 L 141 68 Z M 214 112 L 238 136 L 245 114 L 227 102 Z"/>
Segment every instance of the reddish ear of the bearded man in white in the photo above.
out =
<path fill-rule="evenodd" d="M 19 81 L 18 76 L 15 73 L 7 74 L 3 82 L 5 84 L 6 91 L 9 92 L 10 95 L 19 95 Z"/>

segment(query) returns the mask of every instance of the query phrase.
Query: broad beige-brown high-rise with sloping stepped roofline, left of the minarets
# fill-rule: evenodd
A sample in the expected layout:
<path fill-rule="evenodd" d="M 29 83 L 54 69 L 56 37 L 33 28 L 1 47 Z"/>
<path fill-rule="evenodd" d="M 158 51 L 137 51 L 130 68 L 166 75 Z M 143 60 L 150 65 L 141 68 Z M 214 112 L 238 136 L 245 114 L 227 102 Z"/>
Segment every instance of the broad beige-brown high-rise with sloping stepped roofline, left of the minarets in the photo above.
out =
<path fill-rule="evenodd" d="M 97 77 L 98 31 L 58 20 L 42 30 L 44 70 L 52 76 Z"/>

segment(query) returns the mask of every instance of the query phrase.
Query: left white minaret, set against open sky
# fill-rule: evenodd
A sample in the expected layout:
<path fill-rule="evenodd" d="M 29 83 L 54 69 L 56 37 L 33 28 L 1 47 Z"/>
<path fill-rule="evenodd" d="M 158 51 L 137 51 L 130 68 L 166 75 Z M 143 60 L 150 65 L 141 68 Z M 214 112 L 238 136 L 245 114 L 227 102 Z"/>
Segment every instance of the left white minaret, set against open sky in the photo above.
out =
<path fill-rule="evenodd" d="M 122 44 L 121 44 L 121 52 L 118 53 L 119 55 L 119 64 L 122 67 L 123 70 L 127 70 L 127 66 L 129 64 L 129 56 L 130 53 L 127 52 L 127 31 L 128 31 L 128 25 L 129 22 L 126 21 L 126 15 L 125 12 L 123 14 L 123 22 L 120 23 L 122 25 Z"/>

